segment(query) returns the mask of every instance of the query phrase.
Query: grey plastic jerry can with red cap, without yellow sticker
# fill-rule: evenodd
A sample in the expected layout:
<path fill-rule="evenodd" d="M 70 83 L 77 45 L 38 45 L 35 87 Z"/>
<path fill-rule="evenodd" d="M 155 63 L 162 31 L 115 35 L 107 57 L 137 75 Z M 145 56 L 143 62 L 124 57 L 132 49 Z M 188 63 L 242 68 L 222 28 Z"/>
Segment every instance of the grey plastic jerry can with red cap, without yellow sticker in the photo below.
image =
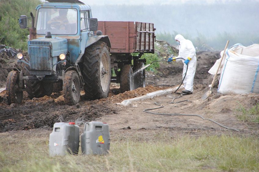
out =
<path fill-rule="evenodd" d="M 75 122 L 57 122 L 49 135 L 49 156 L 78 154 L 79 127 Z"/>

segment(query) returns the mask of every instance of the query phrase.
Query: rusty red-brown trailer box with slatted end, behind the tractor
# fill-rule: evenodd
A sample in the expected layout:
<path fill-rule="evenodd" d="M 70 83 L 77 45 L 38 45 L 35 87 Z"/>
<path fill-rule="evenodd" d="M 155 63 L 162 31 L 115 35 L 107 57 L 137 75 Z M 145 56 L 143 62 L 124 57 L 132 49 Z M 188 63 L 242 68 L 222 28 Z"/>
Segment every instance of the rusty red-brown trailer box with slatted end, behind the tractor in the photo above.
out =
<path fill-rule="evenodd" d="M 154 52 L 154 24 L 98 21 L 98 30 L 108 35 L 111 53 Z"/>

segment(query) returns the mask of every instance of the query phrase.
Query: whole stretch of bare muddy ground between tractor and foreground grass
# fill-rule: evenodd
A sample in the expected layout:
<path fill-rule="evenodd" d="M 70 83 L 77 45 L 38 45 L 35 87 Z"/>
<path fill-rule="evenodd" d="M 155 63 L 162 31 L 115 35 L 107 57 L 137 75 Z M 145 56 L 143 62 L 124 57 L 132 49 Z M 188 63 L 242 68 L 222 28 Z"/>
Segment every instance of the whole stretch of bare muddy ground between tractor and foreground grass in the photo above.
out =
<path fill-rule="evenodd" d="M 220 57 L 219 51 L 197 52 L 197 68 L 194 80 L 194 93 L 181 97 L 188 100 L 179 104 L 170 104 L 178 94 L 168 94 L 142 102 L 136 102 L 129 107 L 117 105 L 125 99 L 138 97 L 146 93 L 178 86 L 181 83 L 183 64 L 161 63 L 158 72 L 146 72 L 147 86 L 137 90 L 120 93 L 119 85 L 112 84 L 108 98 L 101 100 L 84 100 L 81 92 L 81 101 L 74 105 L 64 104 L 62 91 L 51 96 L 29 100 L 24 92 L 21 104 L 11 104 L 6 101 L 6 92 L 0 93 L 0 132 L 20 130 L 46 130 L 51 132 L 55 122 L 75 121 L 83 126 L 86 121 L 103 121 L 110 125 L 111 135 L 140 135 L 152 137 L 158 132 L 170 132 L 174 135 L 257 135 L 257 124 L 239 121 L 236 117 L 240 104 L 252 107 L 259 101 L 257 94 L 228 95 L 217 93 L 217 83 L 211 96 L 202 101 L 202 95 L 208 90 L 208 83 L 212 81 L 207 73 L 214 62 Z M 15 59 L 0 55 L 0 88 L 5 86 L 8 72 L 16 65 Z M 181 90 L 179 90 L 181 91 Z M 213 119 L 228 127 L 237 128 L 235 132 L 204 121 L 198 117 L 161 116 L 143 112 L 146 108 L 157 107 L 154 102 L 161 102 L 165 107 L 154 110 L 162 113 L 199 114 Z"/>

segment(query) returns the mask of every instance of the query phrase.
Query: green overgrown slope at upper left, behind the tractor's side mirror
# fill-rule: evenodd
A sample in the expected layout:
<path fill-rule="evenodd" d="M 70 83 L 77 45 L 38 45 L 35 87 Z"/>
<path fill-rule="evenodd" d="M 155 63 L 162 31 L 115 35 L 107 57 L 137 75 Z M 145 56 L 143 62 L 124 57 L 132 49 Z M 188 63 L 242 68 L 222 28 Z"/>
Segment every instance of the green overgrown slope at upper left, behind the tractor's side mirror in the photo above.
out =
<path fill-rule="evenodd" d="M 40 0 L 1 0 L 0 44 L 26 50 L 29 29 L 20 29 L 18 19 L 20 15 L 30 17 L 30 12 L 35 15 L 35 7 L 41 3 Z M 31 20 L 27 21 L 27 25 L 31 26 Z"/>

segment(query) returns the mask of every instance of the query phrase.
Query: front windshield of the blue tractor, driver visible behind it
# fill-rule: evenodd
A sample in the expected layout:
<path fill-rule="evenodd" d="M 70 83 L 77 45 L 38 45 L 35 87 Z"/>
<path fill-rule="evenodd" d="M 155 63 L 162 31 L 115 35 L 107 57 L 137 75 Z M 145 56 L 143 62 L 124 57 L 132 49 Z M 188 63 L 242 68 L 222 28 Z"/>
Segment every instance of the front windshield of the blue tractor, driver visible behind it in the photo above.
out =
<path fill-rule="evenodd" d="M 77 10 L 64 8 L 41 8 L 38 11 L 37 34 L 77 33 Z"/>

